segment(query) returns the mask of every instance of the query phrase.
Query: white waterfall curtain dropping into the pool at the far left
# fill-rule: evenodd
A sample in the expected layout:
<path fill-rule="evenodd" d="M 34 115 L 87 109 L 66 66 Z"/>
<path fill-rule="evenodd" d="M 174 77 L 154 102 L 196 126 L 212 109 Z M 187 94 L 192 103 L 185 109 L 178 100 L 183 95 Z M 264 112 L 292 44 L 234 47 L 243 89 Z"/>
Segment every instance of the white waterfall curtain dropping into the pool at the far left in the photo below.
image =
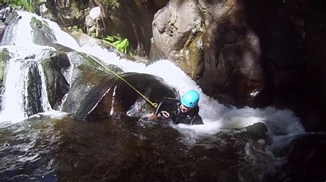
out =
<path fill-rule="evenodd" d="M 6 47 L 12 58 L 6 66 L 1 120 L 18 122 L 32 114 L 49 112 L 44 73 L 37 62 L 44 47 Z M 35 55 L 36 54 L 36 55 Z M 31 84 L 32 83 L 32 84 Z"/>

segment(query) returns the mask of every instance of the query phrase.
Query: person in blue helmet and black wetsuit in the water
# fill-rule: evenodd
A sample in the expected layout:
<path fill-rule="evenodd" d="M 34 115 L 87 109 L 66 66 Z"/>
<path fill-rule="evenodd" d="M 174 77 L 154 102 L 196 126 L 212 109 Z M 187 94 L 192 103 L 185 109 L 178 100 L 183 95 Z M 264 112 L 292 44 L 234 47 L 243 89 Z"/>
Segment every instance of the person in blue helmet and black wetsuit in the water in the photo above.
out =
<path fill-rule="evenodd" d="M 198 101 L 199 93 L 195 90 L 189 90 L 181 99 L 164 97 L 151 116 L 151 120 L 161 117 L 171 119 L 175 124 L 202 125 L 204 123 L 198 114 Z"/>

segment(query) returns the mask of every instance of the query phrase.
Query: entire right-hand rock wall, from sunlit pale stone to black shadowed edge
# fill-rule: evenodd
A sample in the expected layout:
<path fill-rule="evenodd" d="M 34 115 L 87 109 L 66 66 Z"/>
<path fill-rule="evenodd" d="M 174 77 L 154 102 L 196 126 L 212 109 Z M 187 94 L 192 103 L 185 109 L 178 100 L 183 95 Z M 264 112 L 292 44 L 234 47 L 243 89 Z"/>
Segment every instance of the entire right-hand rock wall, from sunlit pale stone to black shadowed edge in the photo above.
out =
<path fill-rule="evenodd" d="M 323 1 L 171 0 L 155 14 L 151 56 L 173 60 L 222 103 L 325 98 L 320 17 Z"/>

